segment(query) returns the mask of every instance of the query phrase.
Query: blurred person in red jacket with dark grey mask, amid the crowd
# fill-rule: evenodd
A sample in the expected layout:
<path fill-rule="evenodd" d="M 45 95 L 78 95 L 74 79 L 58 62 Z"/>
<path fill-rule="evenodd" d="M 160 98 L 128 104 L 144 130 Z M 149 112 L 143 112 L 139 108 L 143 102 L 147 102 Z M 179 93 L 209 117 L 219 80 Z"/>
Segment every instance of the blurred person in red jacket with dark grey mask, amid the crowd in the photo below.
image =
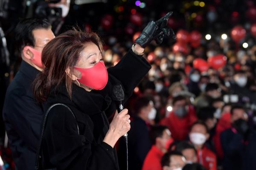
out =
<path fill-rule="evenodd" d="M 176 96 L 172 101 L 172 111 L 160 124 L 169 127 L 174 140 L 185 140 L 191 125 L 197 121 L 195 108 L 188 105 L 186 97 Z"/>

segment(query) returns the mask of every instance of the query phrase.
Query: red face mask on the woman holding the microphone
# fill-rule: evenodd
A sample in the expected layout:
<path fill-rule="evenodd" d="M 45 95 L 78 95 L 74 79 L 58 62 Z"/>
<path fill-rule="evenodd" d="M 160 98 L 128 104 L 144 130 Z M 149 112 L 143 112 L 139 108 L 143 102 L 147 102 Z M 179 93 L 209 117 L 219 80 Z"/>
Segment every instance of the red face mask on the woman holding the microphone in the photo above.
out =
<path fill-rule="evenodd" d="M 102 90 L 108 83 L 108 71 L 104 62 L 98 62 L 92 68 L 74 68 L 82 74 L 81 79 L 77 80 L 90 88 Z"/>

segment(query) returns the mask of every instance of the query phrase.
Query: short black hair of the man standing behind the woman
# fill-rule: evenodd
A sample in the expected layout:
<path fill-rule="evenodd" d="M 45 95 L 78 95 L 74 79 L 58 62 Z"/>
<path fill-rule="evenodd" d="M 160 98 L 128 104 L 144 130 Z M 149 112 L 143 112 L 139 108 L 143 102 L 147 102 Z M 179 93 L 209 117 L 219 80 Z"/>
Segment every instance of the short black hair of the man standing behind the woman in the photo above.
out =
<path fill-rule="evenodd" d="M 51 28 L 51 24 L 46 19 L 37 18 L 21 20 L 17 24 L 15 28 L 15 43 L 19 54 L 26 45 L 35 46 L 33 31 L 41 28 L 49 29 Z"/>

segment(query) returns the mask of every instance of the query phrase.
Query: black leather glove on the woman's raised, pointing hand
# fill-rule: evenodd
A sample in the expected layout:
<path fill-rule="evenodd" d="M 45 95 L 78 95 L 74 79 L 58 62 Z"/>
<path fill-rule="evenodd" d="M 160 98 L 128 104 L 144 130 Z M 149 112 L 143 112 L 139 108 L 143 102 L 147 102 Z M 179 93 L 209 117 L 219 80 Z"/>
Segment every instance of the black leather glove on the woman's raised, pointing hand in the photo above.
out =
<path fill-rule="evenodd" d="M 172 12 L 168 12 L 164 17 L 160 18 L 160 20 L 149 22 L 134 42 L 145 48 L 145 46 L 152 40 L 155 40 L 157 44 L 161 44 L 164 36 L 171 37 L 172 40 L 176 40 L 176 36 L 172 28 L 167 26 L 168 18 L 171 15 Z"/>

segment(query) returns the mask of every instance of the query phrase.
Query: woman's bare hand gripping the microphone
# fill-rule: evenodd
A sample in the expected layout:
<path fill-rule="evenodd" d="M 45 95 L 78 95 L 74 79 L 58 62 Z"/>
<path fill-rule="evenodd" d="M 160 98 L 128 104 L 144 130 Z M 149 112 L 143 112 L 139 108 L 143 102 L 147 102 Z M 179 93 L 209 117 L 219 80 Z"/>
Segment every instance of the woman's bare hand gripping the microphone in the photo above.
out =
<path fill-rule="evenodd" d="M 103 142 L 114 147 L 117 140 L 130 130 L 130 123 L 130 115 L 127 109 L 123 109 L 120 113 L 116 111 Z"/>

